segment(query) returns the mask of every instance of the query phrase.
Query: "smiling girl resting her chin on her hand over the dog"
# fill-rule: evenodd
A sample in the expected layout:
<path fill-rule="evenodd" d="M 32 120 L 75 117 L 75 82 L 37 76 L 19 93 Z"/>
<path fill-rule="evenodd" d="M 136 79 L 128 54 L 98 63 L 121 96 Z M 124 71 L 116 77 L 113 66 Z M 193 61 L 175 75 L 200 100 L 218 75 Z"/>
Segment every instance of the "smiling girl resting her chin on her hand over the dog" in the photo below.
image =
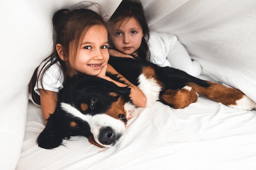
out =
<path fill-rule="evenodd" d="M 54 113 L 58 91 L 65 86 L 68 77 L 88 74 L 102 77 L 117 84 L 106 76 L 106 71 L 117 73 L 108 65 L 108 24 L 96 12 L 89 9 L 61 9 L 54 13 L 54 50 L 36 68 L 29 83 L 29 99 L 41 106 L 43 119 L 47 123 L 49 114 Z M 131 88 L 132 102 L 146 106 L 146 96 L 137 87 L 119 75 Z M 130 117 L 129 117 L 130 118 Z"/>

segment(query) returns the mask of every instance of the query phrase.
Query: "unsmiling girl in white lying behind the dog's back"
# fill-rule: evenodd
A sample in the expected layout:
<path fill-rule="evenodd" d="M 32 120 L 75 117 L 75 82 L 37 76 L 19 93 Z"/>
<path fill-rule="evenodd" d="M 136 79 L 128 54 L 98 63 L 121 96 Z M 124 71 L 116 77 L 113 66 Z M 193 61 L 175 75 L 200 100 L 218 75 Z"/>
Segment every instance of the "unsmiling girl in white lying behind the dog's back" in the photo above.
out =
<path fill-rule="evenodd" d="M 144 10 L 139 0 L 123 0 L 110 17 L 114 24 L 113 49 L 110 55 L 139 56 L 159 66 L 172 66 L 197 77 L 202 68 L 191 58 L 175 35 L 156 33 L 149 29 Z"/>

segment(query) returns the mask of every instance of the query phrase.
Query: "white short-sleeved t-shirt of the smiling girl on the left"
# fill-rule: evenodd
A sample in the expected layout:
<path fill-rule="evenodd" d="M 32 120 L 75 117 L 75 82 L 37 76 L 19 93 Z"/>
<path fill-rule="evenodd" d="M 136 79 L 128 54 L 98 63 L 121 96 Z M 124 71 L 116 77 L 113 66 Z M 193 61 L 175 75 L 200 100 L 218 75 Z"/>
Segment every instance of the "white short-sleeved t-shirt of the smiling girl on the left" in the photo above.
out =
<path fill-rule="evenodd" d="M 38 81 L 36 82 L 36 86 L 34 87 L 34 91 L 38 95 L 40 95 L 39 89 L 45 89 L 47 91 L 53 91 L 58 93 L 63 88 L 64 75 L 61 70 L 61 66 L 59 62 L 54 63 L 52 66 L 50 66 L 47 69 L 47 71 L 45 71 L 45 74 L 43 75 L 43 81 L 41 83 L 40 77 L 41 77 L 41 74 L 43 73 L 43 71 L 41 70 L 42 68 L 44 69 L 48 65 L 47 61 L 49 61 L 49 59 L 43 61 L 38 67 L 37 74 L 40 74 L 40 75 L 39 75 Z M 46 66 L 45 66 L 45 63 L 47 63 Z M 35 104 L 31 95 L 29 95 L 29 99 Z"/>

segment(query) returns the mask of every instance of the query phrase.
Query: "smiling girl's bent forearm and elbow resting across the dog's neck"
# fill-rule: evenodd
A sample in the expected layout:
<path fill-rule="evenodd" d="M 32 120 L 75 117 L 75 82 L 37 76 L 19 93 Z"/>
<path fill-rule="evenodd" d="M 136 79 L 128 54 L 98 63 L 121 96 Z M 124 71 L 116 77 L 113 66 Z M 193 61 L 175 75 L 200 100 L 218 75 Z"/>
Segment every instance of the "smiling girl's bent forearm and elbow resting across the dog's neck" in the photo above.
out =
<path fill-rule="evenodd" d="M 142 107 L 142 108 L 146 106 L 147 98 L 144 95 L 144 93 L 137 86 L 135 86 L 134 84 L 130 83 L 125 77 L 123 77 L 112 66 L 110 66 L 110 64 L 107 64 L 107 68 L 106 69 L 110 73 L 119 75 L 119 77 L 121 77 L 120 79 L 122 81 L 124 81 L 126 84 L 117 82 L 117 81 L 111 79 L 110 77 L 107 77 L 106 75 L 103 76 L 104 79 L 107 79 L 108 81 L 113 82 L 113 83 L 117 84 L 117 86 L 120 86 L 120 87 L 124 87 L 124 86 L 127 86 L 127 84 L 129 84 L 128 87 L 131 88 L 130 98 L 131 98 L 133 104 L 135 104 L 135 105 L 137 105 L 139 107 Z"/>

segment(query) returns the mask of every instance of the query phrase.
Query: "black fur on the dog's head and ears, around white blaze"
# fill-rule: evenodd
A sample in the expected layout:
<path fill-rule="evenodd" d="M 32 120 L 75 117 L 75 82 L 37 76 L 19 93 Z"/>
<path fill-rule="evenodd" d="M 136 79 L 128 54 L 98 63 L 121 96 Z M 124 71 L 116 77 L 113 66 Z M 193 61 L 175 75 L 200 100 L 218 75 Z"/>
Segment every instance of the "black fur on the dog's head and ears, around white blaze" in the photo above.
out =
<path fill-rule="evenodd" d="M 110 75 L 115 77 L 115 75 Z M 116 95 L 109 95 L 115 93 Z M 90 75 L 75 75 L 68 80 L 65 87 L 59 92 L 58 106 L 55 112 L 50 115 L 47 125 L 37 139 L 38 146 L 51 149 L 62 144 L 63 139 L 70 139 L 71 136 L 90 137 L 90 126 L 87 122 L 67 114 L 60 106 L 61 103 L 71 104 L 82 114 L 95 115 L 108 110 L 109 106 L 117 101 L 119 97 L 124 102 L 130 101 L 130 88 L 119 87 L 105 79 Z M 81 104 L 87 104 L 88 109 L 83 110 Z M 125 115 L 119 113 L 116 117 L 124 123 L 127 122 Z M 76 126 L 71 126 L 71 122 Z"/>

